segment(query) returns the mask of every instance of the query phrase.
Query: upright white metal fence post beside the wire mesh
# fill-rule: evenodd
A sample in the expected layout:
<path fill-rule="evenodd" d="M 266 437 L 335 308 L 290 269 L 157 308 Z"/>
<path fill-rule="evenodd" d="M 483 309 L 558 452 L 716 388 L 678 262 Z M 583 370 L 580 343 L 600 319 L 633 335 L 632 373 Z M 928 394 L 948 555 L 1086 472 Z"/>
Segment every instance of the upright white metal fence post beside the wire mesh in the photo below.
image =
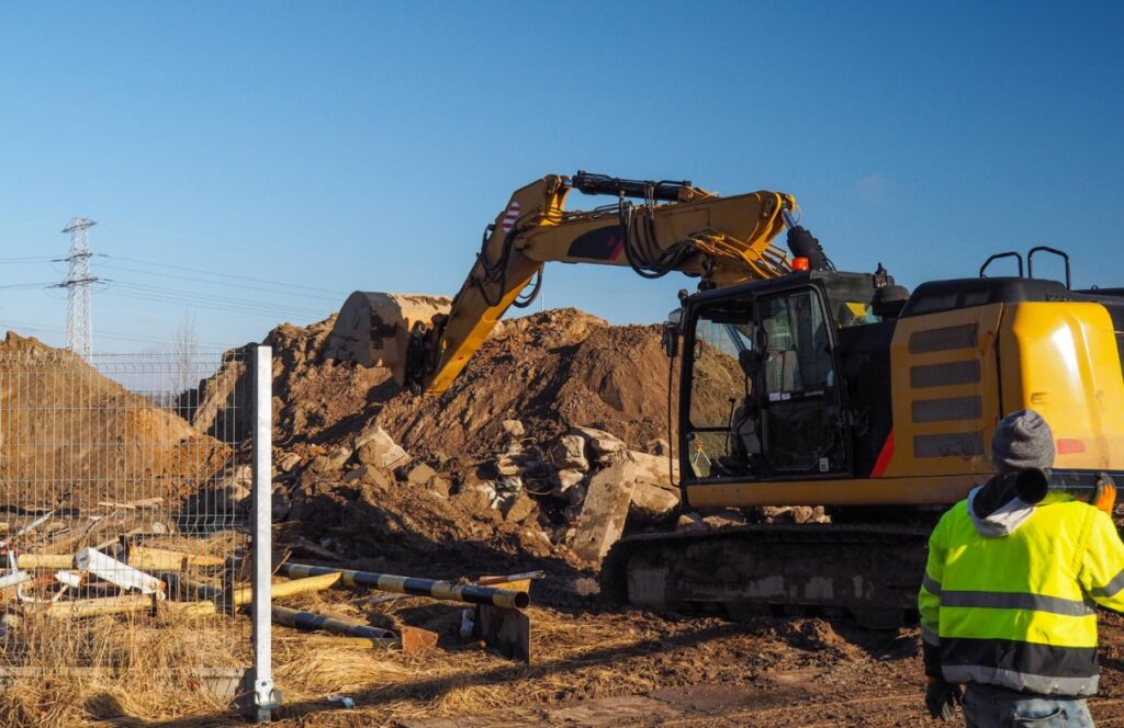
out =
<path fill-rule="evenodd" d="M 254 706 L 269 722 L 280 704 L 273 688 L 273 635 L 270 580 L 273 564 L 273 349 L 254 348 Z"/>

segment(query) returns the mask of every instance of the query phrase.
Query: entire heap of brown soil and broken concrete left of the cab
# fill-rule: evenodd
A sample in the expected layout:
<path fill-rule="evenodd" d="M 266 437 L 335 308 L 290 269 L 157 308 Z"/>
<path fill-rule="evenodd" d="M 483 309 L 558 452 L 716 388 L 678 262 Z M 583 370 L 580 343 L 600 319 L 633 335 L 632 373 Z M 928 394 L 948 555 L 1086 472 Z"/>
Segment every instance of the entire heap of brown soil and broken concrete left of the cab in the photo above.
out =
<path fill-rule="evenodd" d="M 596 564 L 626 521 L 673 525 L 660 327 L 609 326 L 575 309 L 505 320 L 447 391 L 419 397 L 386 370 L 327 361 L 333 322 L 283 325 L 264 342 L 274 352 L 274 517 L 308 543 L 351 558 L 472 543 Z M 710 357 L 701 375 L 733 376 L 723 366 Z M 251 391 L 236 385 L 247 375 L 232 368 L 202 384 L 197 429 L 221 420 L 230 393 Z M 722 418 L 729 403 L 701 407 Z"/>

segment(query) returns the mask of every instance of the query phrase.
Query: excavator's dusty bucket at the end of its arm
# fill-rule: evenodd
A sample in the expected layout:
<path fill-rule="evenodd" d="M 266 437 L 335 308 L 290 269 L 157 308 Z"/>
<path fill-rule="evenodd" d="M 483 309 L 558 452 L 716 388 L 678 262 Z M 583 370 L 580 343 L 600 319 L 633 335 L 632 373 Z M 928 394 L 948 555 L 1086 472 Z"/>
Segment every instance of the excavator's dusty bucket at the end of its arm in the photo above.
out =
<path fill-rule="evenodd" d="M 406 377 L 406 355 L 415 324 L 430 325 L 447 315 L 452 299 L 443 295 L 355 291 L 339 309 L 324 355 L 362 366 L 389 368 L 399 384 Z"/>

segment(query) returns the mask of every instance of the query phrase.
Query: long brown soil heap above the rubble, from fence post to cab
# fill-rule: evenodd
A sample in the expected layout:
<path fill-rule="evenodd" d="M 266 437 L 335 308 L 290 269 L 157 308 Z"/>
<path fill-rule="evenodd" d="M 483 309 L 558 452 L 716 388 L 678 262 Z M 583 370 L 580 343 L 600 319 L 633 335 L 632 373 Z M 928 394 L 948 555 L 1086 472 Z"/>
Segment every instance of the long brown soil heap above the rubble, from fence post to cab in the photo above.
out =
<path fill-rule="evenodd" d="M 372 422 L 415 456 L 468 464 L 498 452 L 501 421 L 518 419 L 528 439 L 546 442 L 575 425 L 643 447 L 667 437 L 668 360 L 658 326 L 609 326 L 577 309 L 501 321 L 453 385 L 439 395 L 404 392 L 390 373 L 324 361 L 335 318 L 284 324 L 273 347 L 274 444 L 300 451 L 348 443 Z M 234 365 L 203 383 L 193 422 L 217 427 L 234 392 L 252 391 Z M 221 429 L 219 429 L 221 431 Z"/>

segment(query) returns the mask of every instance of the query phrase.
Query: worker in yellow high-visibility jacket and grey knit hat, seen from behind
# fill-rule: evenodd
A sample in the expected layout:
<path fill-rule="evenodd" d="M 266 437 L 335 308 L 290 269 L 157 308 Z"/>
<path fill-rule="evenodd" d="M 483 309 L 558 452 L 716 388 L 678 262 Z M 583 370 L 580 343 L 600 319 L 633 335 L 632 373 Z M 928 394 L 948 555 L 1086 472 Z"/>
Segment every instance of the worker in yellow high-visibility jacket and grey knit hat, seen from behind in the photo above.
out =
<path fill-rule="evenodd" d="M 1053 435 L 1033 410 L 995 431 L 996 471 L 1050 468 Z M 1124 611 L 1124 544 L 1108 513 L 1067 500 L 1030 506 L 996 477 L 952 507 L 928 542 L 921 609 L 926 707 L 970 728 L 1091 726 L 1095 603 Z M 962 693 L 960 684 L 967 684 Z"/>

